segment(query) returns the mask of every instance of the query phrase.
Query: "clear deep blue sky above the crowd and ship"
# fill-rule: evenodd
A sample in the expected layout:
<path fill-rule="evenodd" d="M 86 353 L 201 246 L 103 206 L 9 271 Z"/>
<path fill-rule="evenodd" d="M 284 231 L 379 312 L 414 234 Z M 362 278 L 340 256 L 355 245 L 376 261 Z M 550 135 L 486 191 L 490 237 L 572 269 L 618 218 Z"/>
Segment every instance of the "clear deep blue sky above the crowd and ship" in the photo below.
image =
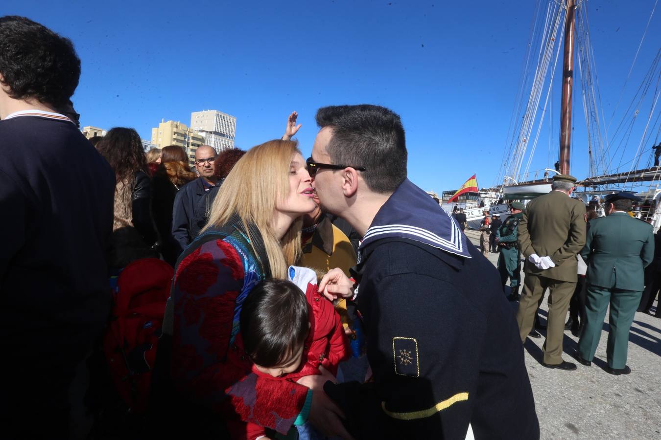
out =
<path fill-rule="evenodd" d="M 83 62 L 73 97 L 81 125 L 135 127 L 151 139 L 161 118 L 188 124 L 191 111 L 214 109 L 237 117 L 235 142 L 249 148 L 280 137 L 286 116 L 297 110 L 307 155 L 317 108 L 380 104 L 402 116 L 410 179 L 435 191 L 457 188 L 473 173 L 483 187 L 495 183 L 535 6 L 523 0 L 2 3 L 0 15 L 28 16 L 73 40 Z M 588 3 L 607 121 L 653 5 Z M 661 10 L 625 104 L 659 42 Z M 587 154 L 578 151 L 585 148 L 582 108 L 574 113 L 580 119 L 572 173 L 585 177 Z M 615 119 L 621 117 L 619 111 Z M 633 139 L 637 146 L 640 137 Z M 548 143 L 547 135 L 538 149 Z M 556 160 L 548 151 L 539 156 L 536 168 Z"/>

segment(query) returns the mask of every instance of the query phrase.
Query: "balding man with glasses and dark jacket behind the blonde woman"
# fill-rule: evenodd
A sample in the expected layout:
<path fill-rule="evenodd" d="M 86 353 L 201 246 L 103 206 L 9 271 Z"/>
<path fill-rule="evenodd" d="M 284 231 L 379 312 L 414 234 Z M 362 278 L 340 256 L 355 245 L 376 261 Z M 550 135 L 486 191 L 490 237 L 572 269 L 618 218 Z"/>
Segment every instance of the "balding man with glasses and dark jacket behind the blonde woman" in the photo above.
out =
<path fill-rule="evenodd" d="M 195 168 L 200 177 L 186 183 L 181 191 L 176 193 L 175 205 L 172 212 L 172 235 L 181 250 L 186 249 L 195 237 L 192 237 L 192 222 L 196 218 L 198 203 L 204 193 L 212 189 L 215 184 L 215 150 L 212 146 L 202 145 L 195 151 Z"/>

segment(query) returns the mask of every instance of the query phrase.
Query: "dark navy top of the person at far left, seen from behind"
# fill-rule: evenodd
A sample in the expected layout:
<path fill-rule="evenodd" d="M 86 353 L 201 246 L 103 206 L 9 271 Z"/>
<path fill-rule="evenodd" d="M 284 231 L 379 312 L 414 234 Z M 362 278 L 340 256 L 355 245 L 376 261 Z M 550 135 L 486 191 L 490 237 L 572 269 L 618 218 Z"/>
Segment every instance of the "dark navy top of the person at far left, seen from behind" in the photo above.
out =
<path fill-rule="evenodd" d="M 0 158 L 3 421 L 68 438 L 69 385 L 110 311 L 114 173 L 65 119 L 0 121 Z"/>

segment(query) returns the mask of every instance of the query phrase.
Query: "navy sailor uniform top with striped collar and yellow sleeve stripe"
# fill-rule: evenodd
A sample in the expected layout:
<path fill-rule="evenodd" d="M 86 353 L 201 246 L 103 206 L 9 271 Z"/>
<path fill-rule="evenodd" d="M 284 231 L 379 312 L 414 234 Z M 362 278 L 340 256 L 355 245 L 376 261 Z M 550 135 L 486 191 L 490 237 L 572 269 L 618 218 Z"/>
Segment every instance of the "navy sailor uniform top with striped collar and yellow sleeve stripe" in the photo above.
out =
<path fill-rule="evenodd" d="M 405 181 L 375 216 L 360 254 L 357 304 L 373 383 L 325 386 L 350 433 L 463 439 L 470 424 L 478 440 L 539 438 L 498 272 L 438 204 Z"/>

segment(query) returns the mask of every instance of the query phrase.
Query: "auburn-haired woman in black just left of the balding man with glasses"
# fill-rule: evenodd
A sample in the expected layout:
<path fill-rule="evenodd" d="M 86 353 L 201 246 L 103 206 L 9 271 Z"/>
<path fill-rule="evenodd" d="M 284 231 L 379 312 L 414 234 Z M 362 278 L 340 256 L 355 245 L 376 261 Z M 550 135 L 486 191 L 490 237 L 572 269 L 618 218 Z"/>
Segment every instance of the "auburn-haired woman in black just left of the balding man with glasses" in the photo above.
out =
<path fill-rule="evenodd" d="M 142 155 L 144 160 L 144 154 Z M 152 179 L 156 230 L 159 233 L 160 249 L 163 259 L 174 267 L 182 249 L 172 235 L 172 209 L 175 195 L 186 183 L 196 179 L 190 170 L 188 156 L 183 148 L 176 145 L 166 146 L 161 150 L 161 164 Z"/>

